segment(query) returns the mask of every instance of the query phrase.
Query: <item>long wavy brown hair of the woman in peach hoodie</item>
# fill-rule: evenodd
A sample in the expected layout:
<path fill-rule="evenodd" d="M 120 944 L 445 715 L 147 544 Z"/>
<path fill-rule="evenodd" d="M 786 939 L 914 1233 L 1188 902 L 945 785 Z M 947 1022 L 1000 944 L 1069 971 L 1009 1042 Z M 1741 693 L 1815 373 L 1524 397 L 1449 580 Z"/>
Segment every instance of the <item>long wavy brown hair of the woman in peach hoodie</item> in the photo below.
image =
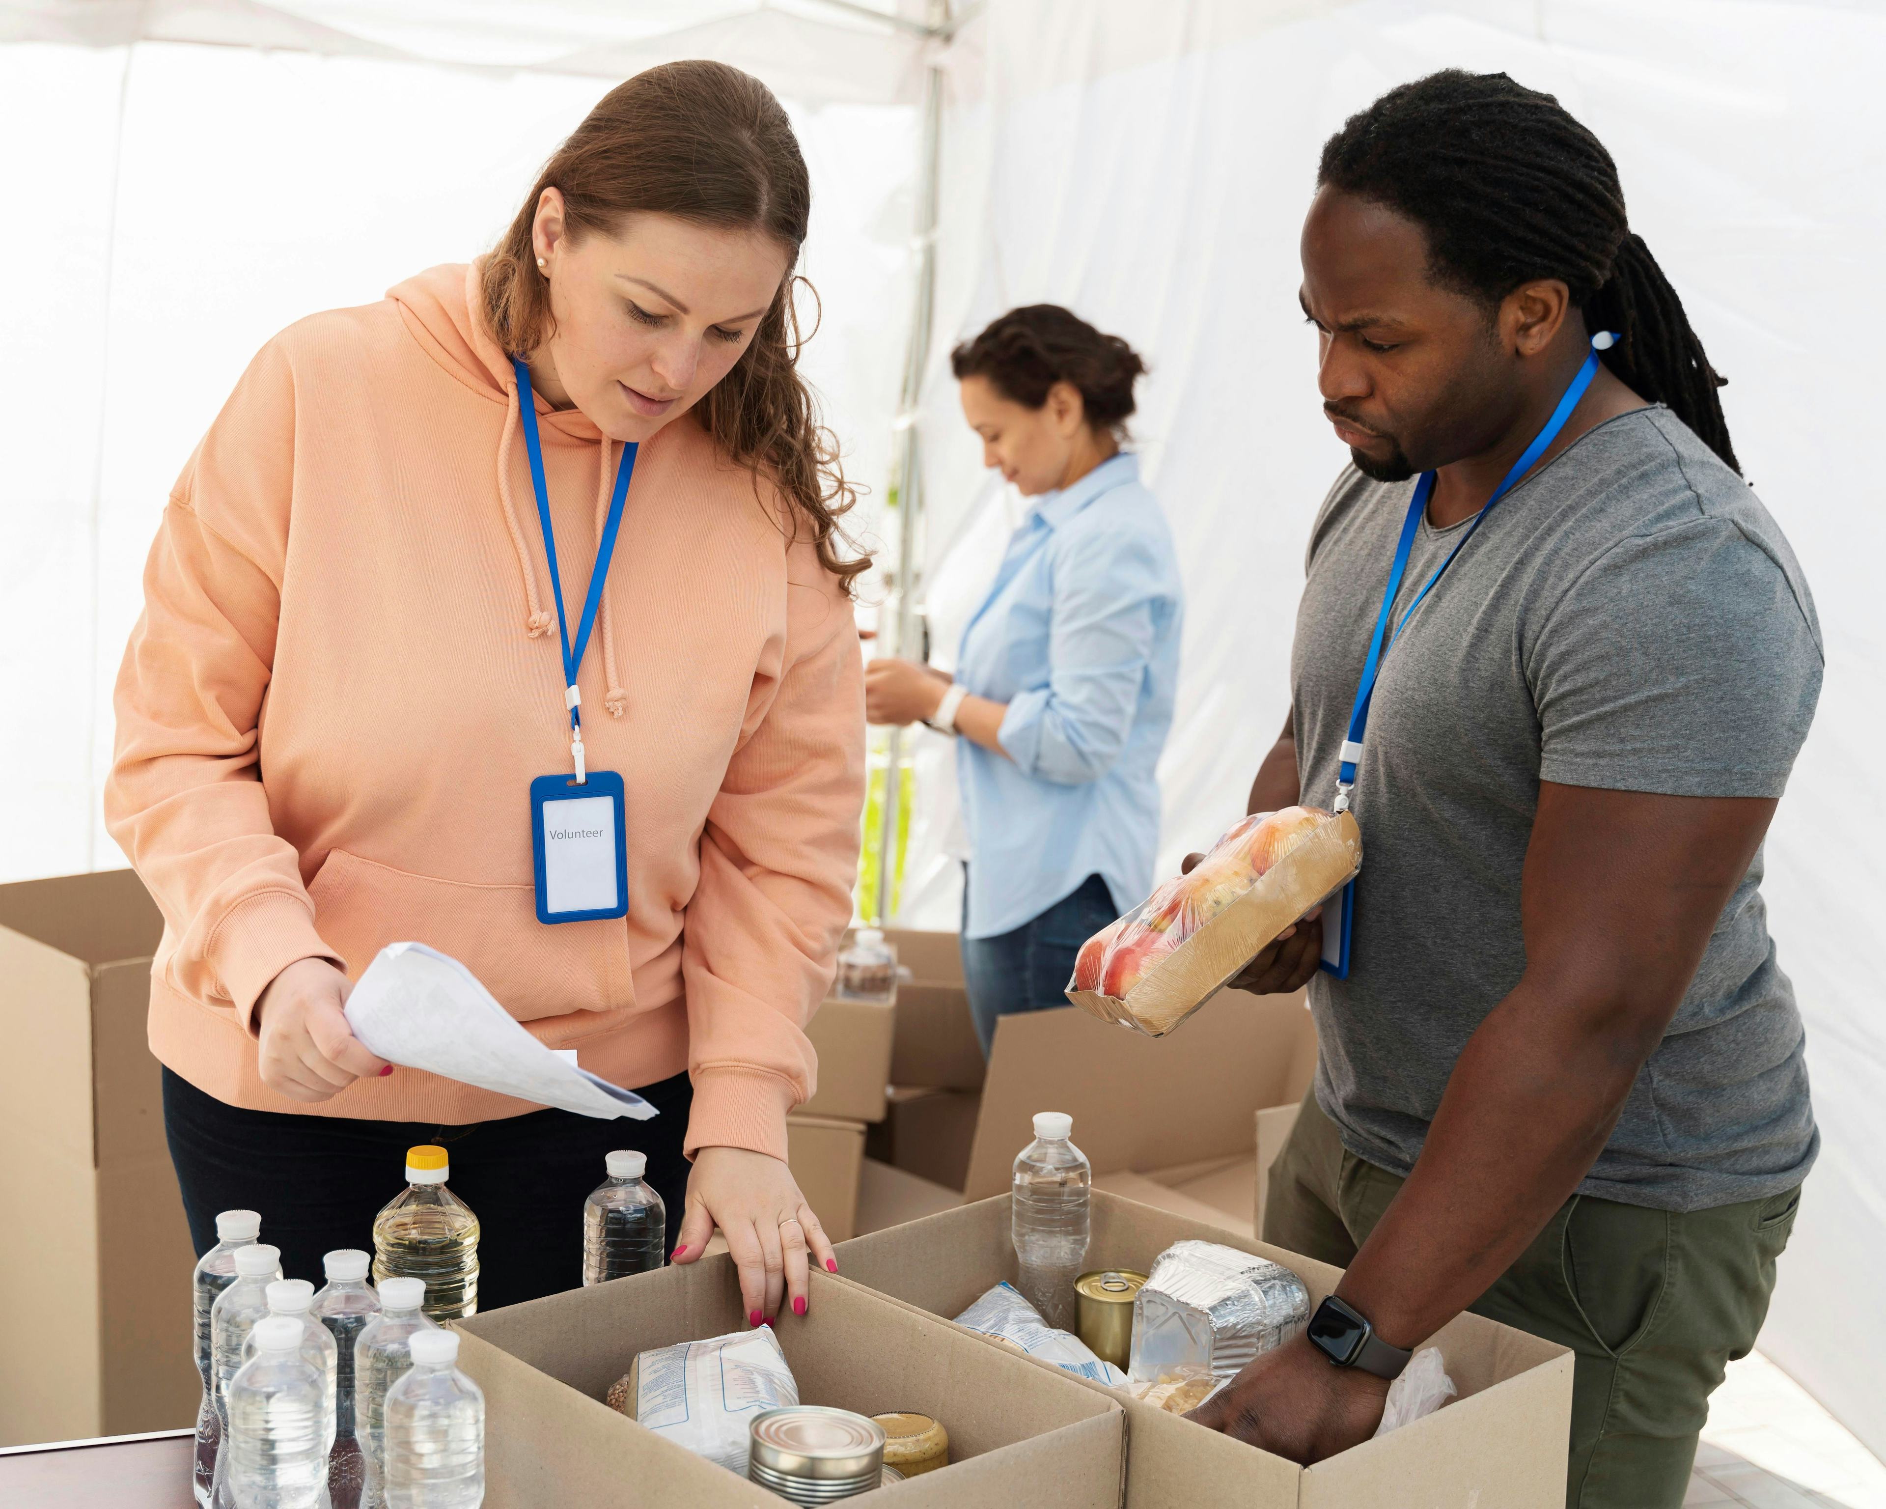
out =
<path fill-rule="evenodd" d="M 803 526 L 819 564 L 849 590 L 871 560 L 839 530 L 854 494 L 837 441 L 798 372 L 803 347 L 792 290 L 811 217 L 811 183 L 792 123 L 771 91 L 722 62 L 670 62 L 611 89 L 545 164 L 511 228 L 485 260 L 485 319 L 507 353 L 549 336 L 551 285 L 532 226 L 545 189 L 564 196 L 571 236 L 613 234 L 636 213 L 762 230 L 788 251 L 786 277 L 753 341 L 694 415 L 754 481 L 764 473 Z M 809 285 L 807 285 L 809 287 Z M 788 521 L 781 521 L 783 526 Z M 843 555 L 841 555 L 843 547 Z"/>

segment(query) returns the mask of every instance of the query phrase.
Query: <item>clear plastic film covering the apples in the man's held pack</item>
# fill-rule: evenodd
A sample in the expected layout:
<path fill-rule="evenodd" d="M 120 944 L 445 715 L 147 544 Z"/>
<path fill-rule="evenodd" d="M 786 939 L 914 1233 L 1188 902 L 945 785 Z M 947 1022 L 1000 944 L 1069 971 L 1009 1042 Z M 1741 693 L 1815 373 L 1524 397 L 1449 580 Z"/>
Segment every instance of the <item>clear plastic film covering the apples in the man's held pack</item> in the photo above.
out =
<path fill-rule="evenodd" d="M 1073 990 L 1124 998 L 1166 954 L 1254 887 L 1330 813 L 1284 807 L 1239 819 L 1190 875 L 1164 881 L 1139 907 L 1081 945 Z"/>

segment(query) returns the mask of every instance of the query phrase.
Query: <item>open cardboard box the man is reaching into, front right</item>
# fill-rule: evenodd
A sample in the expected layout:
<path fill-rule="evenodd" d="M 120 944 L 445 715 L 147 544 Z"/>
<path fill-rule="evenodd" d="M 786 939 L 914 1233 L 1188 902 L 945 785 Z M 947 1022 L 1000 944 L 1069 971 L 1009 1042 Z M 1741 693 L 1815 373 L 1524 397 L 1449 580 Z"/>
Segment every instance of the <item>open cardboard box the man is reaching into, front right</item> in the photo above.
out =
<path fill-rule="evenodd" d="M 1088 1268 L 1135 1268 L 1183 1239 L 1224 1241 L 1281 1262 L 1311 1303 L 1341 1269 L 1228 1237 L 1196 1220 L 1094 1194 Z M 937 1317 L 960 1315 L 990 1285 L 1015 1279 L 1009 1198 L 984 1200 L 837 1249 L 839 1283 L 858 1283 Z M 990 1343 L 994 1345 L 994 1343 Z M 1126 1509 L 1558 1509 L 1565 1501 L 1571 1368 L 1565 1347 L 1477 1315 L 1448 1322 L 1431 1345 L 1460 1398 L 1411 1426 L 1341 1456 L 1298 1468 L 1179 1415 L 1126 1400 Z M 1026 1358 L 1032 1368 L 1051 1364 Z M 1071 1377 L 1071 1375 L 1069 1375 Z M 1111 1398 L 1124 1398 L 1086 1385 Z"/>

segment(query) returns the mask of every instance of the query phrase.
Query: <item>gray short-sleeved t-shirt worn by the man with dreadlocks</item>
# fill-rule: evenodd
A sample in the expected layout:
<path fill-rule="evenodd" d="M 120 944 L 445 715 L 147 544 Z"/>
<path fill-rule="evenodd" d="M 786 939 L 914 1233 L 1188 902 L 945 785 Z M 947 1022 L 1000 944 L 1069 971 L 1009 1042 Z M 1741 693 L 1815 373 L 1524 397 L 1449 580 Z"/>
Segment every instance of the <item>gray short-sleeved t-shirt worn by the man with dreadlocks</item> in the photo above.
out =
<path fill-rule="evenodd" d="M 1292 655 L 1311 805 L 1335 800 L 1413 489 L 1345 470 L 1311 534 Z M 1465 528 L 1422 521 L 1396 621 Z M 1454 1060 L 1518 983 L 1539 781 L 1780 796 L 1820 668 L 1780 528 L 1669 409 L 1599 424 L 1499 502 L 1384 656 L 1369 711 L 1350 975 L 1309 988 L 1316 1100 L 1350 1152 L 1414 1166 Z M 1580 1192 L 1692 1211 L 1807 1175 L 1820 1136 L 1760 883 L 1756 854 Z"/>

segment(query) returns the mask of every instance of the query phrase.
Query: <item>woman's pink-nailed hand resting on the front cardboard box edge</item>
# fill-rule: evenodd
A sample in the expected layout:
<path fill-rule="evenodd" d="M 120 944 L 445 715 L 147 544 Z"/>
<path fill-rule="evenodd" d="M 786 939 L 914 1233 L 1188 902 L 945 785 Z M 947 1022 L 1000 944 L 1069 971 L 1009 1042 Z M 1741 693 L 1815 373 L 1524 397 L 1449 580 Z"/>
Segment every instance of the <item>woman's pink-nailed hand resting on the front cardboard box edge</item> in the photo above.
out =
<path fill-rule="evenodd" d="M 794 1315 L 805 1315 L 807 1258 L 837 1273 L 819 1217 L 779 1158 L 743 1147 L 703 1147 L 694 1154 L 675 1262 L 696 1262 L 715 1226 L 739 1268 L 739 1296 L 753 1326 L 779 1315 L 781 1296 L 790 1298 Z"/>

